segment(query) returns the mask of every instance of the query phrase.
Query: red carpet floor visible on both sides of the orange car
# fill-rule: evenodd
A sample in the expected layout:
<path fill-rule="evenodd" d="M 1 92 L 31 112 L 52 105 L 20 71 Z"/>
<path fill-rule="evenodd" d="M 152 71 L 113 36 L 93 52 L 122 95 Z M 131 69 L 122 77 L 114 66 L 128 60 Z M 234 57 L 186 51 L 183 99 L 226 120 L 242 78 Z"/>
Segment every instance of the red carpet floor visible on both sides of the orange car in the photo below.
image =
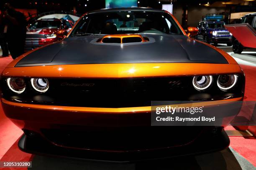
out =
<path fill-rule="evenodd" d="M 0 71 L 12 61 L 11 57 L 0 58 Z M 256 101 L 256 67 L 241 65 L 246 74 L 245 100 Z M 33 155 L 23 153 L 18 149 L 18 138 L 22 131 L 18 129 L 3 114 L 0 106 L 0 160 L 3 161 L 29 161 Z M 230 137 L 230 146 L 256 166 L 256 139 L 243 137 Z M 17 170 L 17 168 L 14 168 Z"/>

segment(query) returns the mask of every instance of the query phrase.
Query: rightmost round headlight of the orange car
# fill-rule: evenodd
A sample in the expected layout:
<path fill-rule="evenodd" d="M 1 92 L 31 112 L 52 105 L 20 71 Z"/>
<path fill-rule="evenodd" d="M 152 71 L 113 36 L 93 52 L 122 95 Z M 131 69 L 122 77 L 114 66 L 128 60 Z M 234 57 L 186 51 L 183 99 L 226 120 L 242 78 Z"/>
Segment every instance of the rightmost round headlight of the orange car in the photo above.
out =
<path fill-rule="evenodd" d="M 227 91 L 236 85 L 237 78 L 237 75 L 220 75 L 218 77 L 217 85 L 220 90 Z"/>

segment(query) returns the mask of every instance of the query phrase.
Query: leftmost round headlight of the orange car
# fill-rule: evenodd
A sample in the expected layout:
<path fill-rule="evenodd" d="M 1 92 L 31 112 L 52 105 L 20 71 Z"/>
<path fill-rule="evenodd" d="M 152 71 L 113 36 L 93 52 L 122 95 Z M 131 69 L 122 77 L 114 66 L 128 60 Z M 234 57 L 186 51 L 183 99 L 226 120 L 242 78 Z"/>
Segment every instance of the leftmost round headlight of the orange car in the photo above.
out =
<path fill-rule="evenodd" d="M 23 78 L 8 78 L 7 85 L 13 92 L 20 94 L 25 91 L 26 83 Z"/>

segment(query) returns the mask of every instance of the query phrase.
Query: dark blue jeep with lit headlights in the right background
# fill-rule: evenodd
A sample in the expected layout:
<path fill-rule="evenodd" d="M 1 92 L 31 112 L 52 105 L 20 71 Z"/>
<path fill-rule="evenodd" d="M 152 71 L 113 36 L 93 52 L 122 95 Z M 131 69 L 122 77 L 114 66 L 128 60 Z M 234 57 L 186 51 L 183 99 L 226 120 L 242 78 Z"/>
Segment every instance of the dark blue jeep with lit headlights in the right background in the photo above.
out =
<path fill-rule="evenodd" d="M 197 40 L 203 40 L 206 43 L 218 43 L 232 45 L 232 34 L 224 28 L 223 21 L 201 21 L 198 25 Z"/>

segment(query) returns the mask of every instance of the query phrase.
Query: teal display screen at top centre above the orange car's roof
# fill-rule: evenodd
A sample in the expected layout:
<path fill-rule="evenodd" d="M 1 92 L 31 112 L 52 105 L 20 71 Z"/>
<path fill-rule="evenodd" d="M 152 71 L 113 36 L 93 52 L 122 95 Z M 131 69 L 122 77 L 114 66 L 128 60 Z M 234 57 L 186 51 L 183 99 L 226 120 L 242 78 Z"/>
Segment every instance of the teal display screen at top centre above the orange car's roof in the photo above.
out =
<path fill-rule="evenodd" d="M 106 0 L 106 8 L 137 7 L 137 0 Z"/>

